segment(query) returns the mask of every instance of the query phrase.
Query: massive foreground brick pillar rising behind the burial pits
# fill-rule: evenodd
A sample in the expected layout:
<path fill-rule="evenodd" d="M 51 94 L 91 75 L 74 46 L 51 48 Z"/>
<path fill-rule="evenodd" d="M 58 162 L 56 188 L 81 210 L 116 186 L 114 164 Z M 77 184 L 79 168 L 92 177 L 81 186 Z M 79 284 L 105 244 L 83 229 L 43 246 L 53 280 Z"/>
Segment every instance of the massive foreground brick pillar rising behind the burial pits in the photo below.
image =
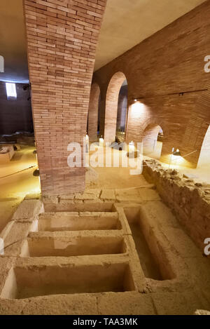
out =
<path fill-rule="evenodd" d="M 69 168 L 67 146 L 85 137 L 106 0 L 23 3 L 42 193 L 83 191 L 85 168 Z"/>

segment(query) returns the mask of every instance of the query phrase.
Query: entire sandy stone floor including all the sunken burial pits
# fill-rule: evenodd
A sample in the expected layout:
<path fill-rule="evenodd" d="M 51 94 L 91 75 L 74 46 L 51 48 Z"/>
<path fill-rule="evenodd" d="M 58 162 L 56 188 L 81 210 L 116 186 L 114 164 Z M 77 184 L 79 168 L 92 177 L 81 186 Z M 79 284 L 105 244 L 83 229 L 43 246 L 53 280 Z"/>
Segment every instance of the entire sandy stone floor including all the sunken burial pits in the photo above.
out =
<path fill-rule="evenodd" d="M 22 152 L 16 160 L 36 166 L 33 149 Z M 83 194 L 43 199 L 34 168 L 3 181 L 0 314 L 210 310 L 209 258 L 130 169 L 95 168 Z"/>

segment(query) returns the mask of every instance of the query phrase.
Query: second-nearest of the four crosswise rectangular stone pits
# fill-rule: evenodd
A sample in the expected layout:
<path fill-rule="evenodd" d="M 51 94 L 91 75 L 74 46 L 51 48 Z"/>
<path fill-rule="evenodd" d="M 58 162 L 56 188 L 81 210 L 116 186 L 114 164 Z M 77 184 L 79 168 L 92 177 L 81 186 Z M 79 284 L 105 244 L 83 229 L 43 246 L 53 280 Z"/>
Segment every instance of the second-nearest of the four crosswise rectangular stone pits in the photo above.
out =
<path fill-rule="evenodd" d="M 81 255 L 110 255 L 126 252 L 122 237 L 28 238 L 20 257 L 69 257 Z"/>

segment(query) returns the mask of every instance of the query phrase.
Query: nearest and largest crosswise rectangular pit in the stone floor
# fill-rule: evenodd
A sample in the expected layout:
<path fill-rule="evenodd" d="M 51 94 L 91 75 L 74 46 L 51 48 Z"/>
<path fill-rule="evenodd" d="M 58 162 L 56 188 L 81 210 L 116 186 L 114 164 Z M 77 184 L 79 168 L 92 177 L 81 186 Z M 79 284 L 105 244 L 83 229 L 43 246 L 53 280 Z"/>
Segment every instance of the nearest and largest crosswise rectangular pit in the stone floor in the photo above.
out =
<path fill-rule="evenodd" d="M 15 267 L 10 270 L 1 298 L 125 292 L 135 290 L 129 264 L 91 264 Z"/>

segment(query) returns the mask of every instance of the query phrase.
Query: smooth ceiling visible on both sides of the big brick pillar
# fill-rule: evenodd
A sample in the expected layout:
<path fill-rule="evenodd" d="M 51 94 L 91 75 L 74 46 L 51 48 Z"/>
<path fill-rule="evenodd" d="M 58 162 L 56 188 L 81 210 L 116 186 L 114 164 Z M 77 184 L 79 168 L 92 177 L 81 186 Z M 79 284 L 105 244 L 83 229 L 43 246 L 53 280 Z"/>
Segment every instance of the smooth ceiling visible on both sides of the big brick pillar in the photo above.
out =
<path fill-rule="evenodd" d="M 176 20 L 205 0 L 108 0 L 95 69 Z M 0 0 L 0 81 L 28 81 L 22 0 Z"/>

